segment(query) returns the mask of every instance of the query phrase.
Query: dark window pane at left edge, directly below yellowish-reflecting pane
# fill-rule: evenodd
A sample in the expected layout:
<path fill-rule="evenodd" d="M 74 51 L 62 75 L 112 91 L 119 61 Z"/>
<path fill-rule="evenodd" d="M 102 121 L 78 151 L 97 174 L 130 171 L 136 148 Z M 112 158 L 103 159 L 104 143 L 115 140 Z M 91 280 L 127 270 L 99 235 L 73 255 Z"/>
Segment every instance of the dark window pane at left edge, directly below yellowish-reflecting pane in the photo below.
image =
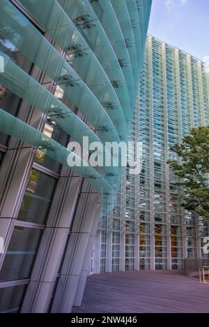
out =
<path fill-rule="evenodd" d="M 15 226 L 0 271 L 0 280 L 29 277 L 40 234 L 41 230 Z"/>

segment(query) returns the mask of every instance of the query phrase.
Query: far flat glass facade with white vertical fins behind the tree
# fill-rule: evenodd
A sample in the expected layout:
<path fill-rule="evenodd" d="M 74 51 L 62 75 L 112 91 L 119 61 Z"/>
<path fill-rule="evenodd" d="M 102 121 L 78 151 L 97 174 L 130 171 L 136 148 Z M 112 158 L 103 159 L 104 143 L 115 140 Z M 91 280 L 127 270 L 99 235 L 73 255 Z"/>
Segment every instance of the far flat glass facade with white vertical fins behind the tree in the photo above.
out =
<path fill-rule="evenodd" d="M 189 129 L 209 125 L 208 74 L 203 62 L 148 36 L 130 132 L 130 140 L 142 142 L 142 170 L 137 177 L 127 167 L 118 205 L 102 217 L 107 223 L 100 224 L 98 237 L 105 232 L 112 255 L 110 251 L 103 255 L 101 271 L 104 266 L 109 272 L 183 269 L 184 258 L 208 259 L 203 253 L 208 223 L 180 206 L 183 190 L 175 185 L 178 178 L 167 164 L 175 157 L 171 147 Z"/>

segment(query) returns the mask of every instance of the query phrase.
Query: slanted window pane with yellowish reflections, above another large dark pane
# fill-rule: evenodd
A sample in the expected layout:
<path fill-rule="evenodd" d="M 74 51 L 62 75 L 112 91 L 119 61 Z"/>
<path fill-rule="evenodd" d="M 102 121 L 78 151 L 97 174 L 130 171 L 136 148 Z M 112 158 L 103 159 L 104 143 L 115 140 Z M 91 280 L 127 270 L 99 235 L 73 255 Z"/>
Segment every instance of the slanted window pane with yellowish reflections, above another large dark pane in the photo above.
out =
<path fill-rule="evenodd" d="M 17 219 L 44 223 L 56 180 L 32 169 Z"/>

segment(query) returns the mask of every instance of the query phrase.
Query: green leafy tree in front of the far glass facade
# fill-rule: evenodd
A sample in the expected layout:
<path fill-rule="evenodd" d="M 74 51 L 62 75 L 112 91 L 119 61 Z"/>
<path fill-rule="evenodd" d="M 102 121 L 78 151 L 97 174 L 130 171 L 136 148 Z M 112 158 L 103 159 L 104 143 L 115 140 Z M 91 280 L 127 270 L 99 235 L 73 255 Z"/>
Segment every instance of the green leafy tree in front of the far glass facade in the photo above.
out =
<path fill-rule="evenodd" d="M 209 220 L 209 126 L 193 128 L 172 148 L 177 160 L 168 163 L 183 186 L 183 207 Z"/>

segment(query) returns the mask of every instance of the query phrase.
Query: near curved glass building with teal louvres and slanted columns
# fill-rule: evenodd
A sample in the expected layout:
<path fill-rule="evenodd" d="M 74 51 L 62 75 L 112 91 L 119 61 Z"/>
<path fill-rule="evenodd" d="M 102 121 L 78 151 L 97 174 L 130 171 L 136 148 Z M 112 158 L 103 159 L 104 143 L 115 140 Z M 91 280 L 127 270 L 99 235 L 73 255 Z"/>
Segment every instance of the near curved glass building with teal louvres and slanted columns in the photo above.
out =
<path fill-rule="evenodd" d="M 69 168 L 68 143 L 127 142 L 151 3 L 0 1 L 0 312 L 70 312 L 72 288 L 83 292 L 88 239 L 101 203 L 106 212 L 114 205 L 121 168 Z M 127 218 L 127 269 L 133 223 Z"/>

